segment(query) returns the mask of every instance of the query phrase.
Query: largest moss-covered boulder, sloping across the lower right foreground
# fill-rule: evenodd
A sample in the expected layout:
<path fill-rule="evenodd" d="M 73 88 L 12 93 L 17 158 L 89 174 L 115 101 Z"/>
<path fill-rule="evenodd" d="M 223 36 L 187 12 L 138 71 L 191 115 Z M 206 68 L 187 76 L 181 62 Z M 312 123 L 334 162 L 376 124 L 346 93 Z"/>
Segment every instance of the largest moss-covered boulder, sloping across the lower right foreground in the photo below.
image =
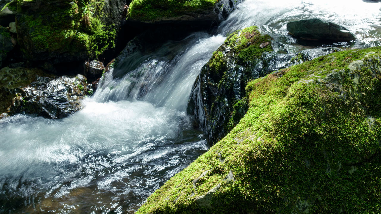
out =
<path fill-rule="evenodd" d="M 380 80 L 370 48 L 249 82 L 240 123 L 137 214 L 381 212 Z"/>

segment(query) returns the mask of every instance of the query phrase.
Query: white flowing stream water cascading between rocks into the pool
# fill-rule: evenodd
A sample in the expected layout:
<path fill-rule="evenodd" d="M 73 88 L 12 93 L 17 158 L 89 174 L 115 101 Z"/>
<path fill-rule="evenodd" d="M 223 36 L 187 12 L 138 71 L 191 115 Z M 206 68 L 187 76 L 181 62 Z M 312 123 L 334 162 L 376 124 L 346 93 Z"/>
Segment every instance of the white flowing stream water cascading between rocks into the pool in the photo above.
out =
<path fill-rule="evenodd" d="M 361 0 L 246 0 L 218 35 L 196 32 L 126 57 L 74 115 L 0 120 L 0 213 L 133 213 L 207 151 L 185 109 L 195 78 L 229 32 L 259 25 L 276 51 L 295 53 L 314 47 L 296 44 L 285 24 L 323 18 L 355 33 L 352 48 L 376 46 L 380 8 Z"/>

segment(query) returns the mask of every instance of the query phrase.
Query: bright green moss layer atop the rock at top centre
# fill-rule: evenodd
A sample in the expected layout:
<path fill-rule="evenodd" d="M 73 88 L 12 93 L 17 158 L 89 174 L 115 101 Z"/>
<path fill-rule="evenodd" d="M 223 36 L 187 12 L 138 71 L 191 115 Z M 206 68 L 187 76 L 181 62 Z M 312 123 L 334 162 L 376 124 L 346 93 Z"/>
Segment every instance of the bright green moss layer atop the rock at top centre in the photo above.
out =
<path fill-rule="evenodd" d="M 128 18 L 156 21 L 198 10 L 208 10 L 217 2 L 218 0 L 133 0 L 128 8 Z"/>

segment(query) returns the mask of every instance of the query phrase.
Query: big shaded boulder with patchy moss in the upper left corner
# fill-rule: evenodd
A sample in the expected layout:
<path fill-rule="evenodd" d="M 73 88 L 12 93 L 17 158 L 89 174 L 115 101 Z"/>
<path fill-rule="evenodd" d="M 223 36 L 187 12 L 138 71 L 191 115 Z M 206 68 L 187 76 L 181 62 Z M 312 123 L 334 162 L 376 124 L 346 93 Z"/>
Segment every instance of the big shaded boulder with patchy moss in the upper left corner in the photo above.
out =
<path fill-rule="evenodd" d="M 115 45 L 125 0 L 21 0 L 16 28 L 27 59 L 53 64 L 96 57 Z"/>

